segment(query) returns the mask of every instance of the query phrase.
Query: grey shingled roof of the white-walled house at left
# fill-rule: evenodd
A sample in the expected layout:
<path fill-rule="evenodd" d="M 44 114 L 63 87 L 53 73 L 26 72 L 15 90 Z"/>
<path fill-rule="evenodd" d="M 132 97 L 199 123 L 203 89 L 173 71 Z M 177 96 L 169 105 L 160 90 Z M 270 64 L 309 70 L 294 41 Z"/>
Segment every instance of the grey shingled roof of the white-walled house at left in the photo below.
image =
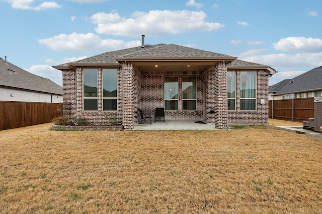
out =
<path fill-rule="evenodd" d="M 62 95 L 62 87 L 0 58 L 0 87 Z"/>

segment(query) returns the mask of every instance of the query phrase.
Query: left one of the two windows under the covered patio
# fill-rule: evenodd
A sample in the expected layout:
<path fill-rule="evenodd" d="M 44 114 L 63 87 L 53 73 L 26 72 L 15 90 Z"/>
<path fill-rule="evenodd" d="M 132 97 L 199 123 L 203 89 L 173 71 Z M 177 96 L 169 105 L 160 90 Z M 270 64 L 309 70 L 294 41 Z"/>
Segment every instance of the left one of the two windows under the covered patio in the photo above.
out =
<path fill-rule="evenodd" d="M 165 109 L 178 110 L 178 77 L 165 77 Z"/>

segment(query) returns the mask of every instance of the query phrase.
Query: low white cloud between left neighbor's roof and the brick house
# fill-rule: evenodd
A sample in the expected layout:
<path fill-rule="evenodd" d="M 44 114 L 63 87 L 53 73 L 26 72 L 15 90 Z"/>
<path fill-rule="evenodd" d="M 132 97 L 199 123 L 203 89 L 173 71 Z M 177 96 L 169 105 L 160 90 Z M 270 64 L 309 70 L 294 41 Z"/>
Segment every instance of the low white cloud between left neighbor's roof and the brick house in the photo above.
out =
<path fill-rule="evenodd" d="M 62 86 L 62 73 L 49 65 L 33 65 L 31 68 L 24 69 L 32 74 L 50 79 L 54 83 Z"/>

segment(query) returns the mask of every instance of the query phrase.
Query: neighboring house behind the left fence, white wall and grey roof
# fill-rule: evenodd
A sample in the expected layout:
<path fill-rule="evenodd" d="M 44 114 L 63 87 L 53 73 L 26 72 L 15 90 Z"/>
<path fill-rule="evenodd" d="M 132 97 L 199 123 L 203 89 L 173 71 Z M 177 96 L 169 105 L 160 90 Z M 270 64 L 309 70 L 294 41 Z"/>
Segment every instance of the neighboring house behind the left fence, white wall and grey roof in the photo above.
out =
<path fill-rule="evenodd" d="M 61 103 L 62 87 L 0 58 L 0 101 Z"/>

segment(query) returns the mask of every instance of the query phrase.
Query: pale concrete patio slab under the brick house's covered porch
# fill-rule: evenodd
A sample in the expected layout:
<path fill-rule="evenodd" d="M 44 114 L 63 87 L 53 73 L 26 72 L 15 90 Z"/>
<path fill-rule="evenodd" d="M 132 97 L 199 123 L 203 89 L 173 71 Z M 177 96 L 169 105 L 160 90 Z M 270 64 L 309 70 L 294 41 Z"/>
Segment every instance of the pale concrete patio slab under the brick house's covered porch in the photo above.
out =
<path fill-rule="evenodd" d="M 133 130 L 217 130 L 213 124 L 195 123 L 195 121 L 145 121 L 141 125 L 135 124 Z"/>

